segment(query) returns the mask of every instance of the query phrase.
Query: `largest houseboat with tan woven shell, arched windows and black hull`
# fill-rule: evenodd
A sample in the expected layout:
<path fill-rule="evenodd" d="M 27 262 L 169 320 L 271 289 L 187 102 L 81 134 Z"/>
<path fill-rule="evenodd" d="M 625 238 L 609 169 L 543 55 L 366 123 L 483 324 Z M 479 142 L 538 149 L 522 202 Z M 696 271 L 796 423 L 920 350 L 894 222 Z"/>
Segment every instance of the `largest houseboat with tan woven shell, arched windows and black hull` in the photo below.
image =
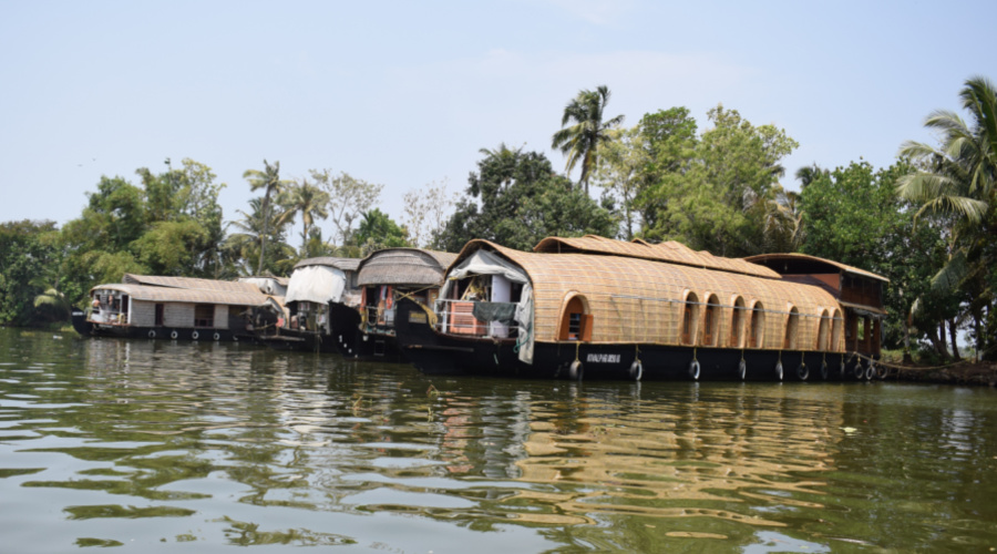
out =
<path fill-rule="evenodd" d="M 682 380 L 874 375 L 887 279 L 812 256 L 732 259 L 679 243 L 472 240 L 430 311 L 402 299 L 426 373 Z"/>

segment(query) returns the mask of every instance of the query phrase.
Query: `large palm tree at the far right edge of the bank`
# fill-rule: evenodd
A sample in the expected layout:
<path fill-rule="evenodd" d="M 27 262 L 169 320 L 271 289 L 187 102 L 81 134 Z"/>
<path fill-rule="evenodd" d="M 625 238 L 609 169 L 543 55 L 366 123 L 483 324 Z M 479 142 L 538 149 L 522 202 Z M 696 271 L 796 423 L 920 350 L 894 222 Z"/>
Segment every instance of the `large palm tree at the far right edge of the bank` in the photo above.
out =
<path fill-rule="evenodd" d="M 902 156 L 922 164 L 901 177 L 897 192 L 918 204 L 916 217 L 941 214 L 949 222 L 949 258 L 935 275 L 935 291 L 964 289 L 970 294 L 969 309 L 977 324 L 977 348 L 987 335 L 981 331 L 983 314 L 994 320 L 994 291 L 987 285 L 997 264 L 993 244 L 997 235 L 997 89 L 989 80 L 974 76 L 959 92 L 963 107 L 969 112 L 967 123 L 957 113 L 936 110 L 925 126 L 942 135 L 938 148 L 908 141 Z M 922 302 L 915 302 L 915 308 Z"/>

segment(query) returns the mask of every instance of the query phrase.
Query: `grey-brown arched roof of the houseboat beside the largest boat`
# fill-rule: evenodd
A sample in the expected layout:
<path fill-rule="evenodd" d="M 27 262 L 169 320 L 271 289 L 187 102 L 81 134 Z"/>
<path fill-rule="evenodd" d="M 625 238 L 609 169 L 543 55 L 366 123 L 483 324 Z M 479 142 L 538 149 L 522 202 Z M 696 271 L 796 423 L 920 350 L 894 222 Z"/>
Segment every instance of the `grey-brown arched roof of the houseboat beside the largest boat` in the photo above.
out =
<path fill-rule="evenodd" d="M 440 286 L 456 254 L 421 248 L 387 248 L 360 263 L 357 284 Z"/>

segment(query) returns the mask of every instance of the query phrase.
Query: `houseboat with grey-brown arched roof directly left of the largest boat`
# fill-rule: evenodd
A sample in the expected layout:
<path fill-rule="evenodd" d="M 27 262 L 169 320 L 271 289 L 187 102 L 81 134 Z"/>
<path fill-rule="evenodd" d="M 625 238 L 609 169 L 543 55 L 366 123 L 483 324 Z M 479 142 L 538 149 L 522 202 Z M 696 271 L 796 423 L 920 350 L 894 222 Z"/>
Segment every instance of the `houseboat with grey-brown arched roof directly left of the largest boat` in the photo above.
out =
<path fill-rule="evenodd" d="M 388 248 L 364 258 L 357 268 L 359 306 L 329 305 L 339 352 L 361 360 L 405 361 L 395 341 L 395 304 L 405 298 L 423 309 L 433 306 L 455 258 L 456 254 L 420 248 Z"/>

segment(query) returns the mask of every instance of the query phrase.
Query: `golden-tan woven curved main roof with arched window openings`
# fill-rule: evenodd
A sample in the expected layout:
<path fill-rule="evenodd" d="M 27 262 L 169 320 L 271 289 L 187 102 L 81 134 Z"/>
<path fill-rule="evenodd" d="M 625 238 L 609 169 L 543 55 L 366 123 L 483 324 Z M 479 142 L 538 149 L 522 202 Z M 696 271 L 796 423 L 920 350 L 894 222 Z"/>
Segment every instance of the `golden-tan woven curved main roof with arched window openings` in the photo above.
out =
<path fill-rule="evenodd" d="M 762 268 L 765 269 L 762 277 L 678 263 L 662 264 L 661 258 L 651 256 L 611 256 L 607 255 L 607 247 L 597 254 L 577 249 L 562 254 L 527 253 L 486 240 L 467 243 L 458 260 L 480 248 L 497 253 L 528 275 L 534 291 L 534 332 L 538 341 L 557 340 L 563 309 L 573 296 L 584 298 L 593 315 L 593 341 L 604 343 L 679 343 L 682 309 L 687 300 L 693 298 L 690 294 L 700 306 L 705 302 L 720 306 L 719 337 L 731 334 L 736 302 L 748 309 L 760 306 L 763 347 L 771 349 L 782 348 L 792 309 L 799 314 L 796 350 L 815 349 L 822 316 L 830 321 L 842 315 L 840 304 L 826 290 L 769 278 L 771 270 L 765 268 Z M 631 247 L 620 249 L 626 252 L 628 248 Z M 843 348 L 842 335 L 839 332 L 833 349 Z"/>

